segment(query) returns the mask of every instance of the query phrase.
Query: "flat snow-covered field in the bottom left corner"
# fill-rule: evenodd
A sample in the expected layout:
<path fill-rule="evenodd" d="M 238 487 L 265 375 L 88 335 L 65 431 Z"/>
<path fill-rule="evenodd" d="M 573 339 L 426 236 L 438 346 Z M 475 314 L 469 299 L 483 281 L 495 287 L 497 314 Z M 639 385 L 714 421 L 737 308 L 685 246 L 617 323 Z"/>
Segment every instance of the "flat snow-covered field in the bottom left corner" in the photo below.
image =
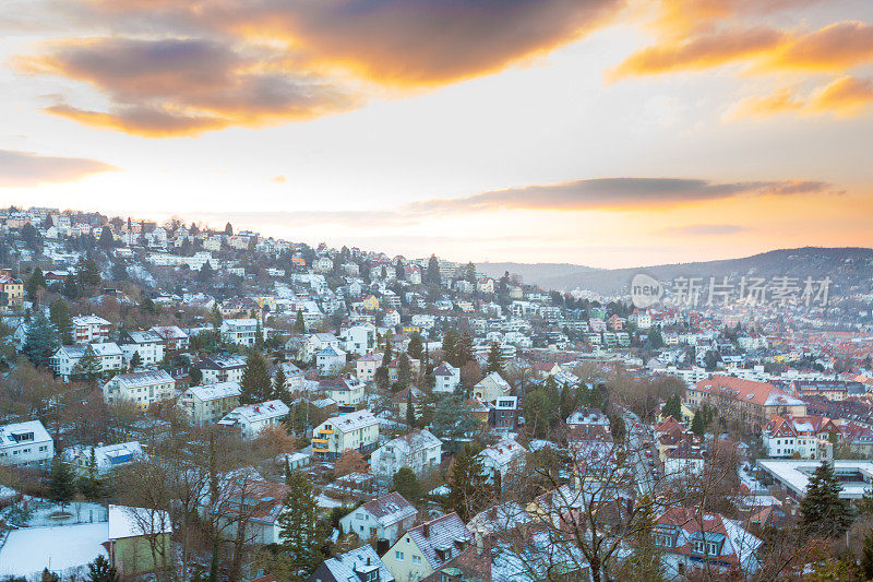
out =
<path fill-rule="evenodd" d="M 101 544 L 108 536 L 106 523 L 14 530 L 0 548 L 0 577 L 32 578 L 44 568 L 62 573 L 84 566 L 100 554 L 107 556 Z"/>

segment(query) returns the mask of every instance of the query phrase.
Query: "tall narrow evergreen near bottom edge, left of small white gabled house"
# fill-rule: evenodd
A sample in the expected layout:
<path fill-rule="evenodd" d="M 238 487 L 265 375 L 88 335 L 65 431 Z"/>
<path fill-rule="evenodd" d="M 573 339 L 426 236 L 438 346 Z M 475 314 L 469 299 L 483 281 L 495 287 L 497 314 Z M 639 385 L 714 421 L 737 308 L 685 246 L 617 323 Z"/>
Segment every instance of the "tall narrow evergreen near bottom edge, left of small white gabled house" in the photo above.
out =
<path fill-rule="evenodd" d="M 279 539 L 283 551 L 290 558 L 290 582 L 304 582 L 324 559 L 319 506 L 307 475 L 295 471 L 288 486 L 285 511 L 278 518 Z"/>

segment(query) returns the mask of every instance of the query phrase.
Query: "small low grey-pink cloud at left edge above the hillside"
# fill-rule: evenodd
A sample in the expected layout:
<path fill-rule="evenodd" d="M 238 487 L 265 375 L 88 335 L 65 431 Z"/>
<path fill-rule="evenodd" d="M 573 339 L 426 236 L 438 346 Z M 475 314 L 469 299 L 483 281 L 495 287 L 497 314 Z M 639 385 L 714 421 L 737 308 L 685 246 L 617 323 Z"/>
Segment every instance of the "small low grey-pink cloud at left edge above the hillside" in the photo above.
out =
<path fill-rule="evenodd" d="M 118 169 L 82 157 L 43 156 L 0 150 L 0 187 L 31 187 L 46 182 L 69 182 L 91 174 Z"/>

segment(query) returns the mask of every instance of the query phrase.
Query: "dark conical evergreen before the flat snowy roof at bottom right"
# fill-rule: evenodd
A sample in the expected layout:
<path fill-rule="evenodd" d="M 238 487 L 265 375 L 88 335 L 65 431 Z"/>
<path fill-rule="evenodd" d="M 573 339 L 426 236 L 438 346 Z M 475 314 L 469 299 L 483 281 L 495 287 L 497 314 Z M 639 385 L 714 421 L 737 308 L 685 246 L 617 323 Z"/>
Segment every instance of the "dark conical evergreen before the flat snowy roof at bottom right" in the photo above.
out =
<path fill-rule="evenodd" d="M 800 502 L 800 527 L 826 537 L 837 537 L 848 530 L 852 515 L 847 501 L 839 498 L 841 490 L 834 467 L 823 461 L 810 478 L 806 495 Z"/>

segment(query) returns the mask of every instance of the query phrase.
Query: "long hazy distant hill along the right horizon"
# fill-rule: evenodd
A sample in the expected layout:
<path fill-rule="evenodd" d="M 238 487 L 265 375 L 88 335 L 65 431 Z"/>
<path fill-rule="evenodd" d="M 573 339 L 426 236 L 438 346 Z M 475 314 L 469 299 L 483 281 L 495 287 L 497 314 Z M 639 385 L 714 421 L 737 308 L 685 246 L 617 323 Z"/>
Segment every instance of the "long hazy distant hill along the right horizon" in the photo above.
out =
<path fill-rule="evenodd" d="M 498 265 L 502 265 L 499 266 Z M 740 277 L 755 275 L 773 277 L 822 278 L 830 276 L 835 288 L 859 287 L 868 290 L 873 282 L 873 249 L 869 248 L 820 248 L 782 249 L 742 259 L 706 261 L 695 263 L 660 264 L 634 269 L 590 269 L 573 264 L 515 264 L 485 263 L 477 265 L 492 276 L 505 271 L 522 276 L 525 283 L 546 289 L 569 292 L 575 288 L 589 289 L 602 295 L 624 293 L 631 278 L 637 273 L 647 273 L 666 282 L 677 276 Z"/>

